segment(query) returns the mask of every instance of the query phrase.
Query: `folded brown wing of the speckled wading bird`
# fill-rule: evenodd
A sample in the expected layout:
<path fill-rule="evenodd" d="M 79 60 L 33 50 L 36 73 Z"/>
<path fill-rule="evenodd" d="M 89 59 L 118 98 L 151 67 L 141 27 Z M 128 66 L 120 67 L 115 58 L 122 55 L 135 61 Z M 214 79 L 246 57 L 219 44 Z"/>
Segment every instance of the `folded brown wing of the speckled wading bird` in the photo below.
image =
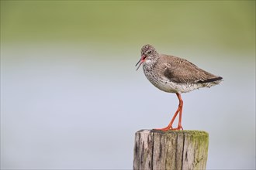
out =
<path fill-rule="evenodd" d="M 170 62 L 163 69 L 164 76 L 175 83 L 207 83 L 222 79 L 200 69 L 186 59 L 172 56 L 172 59 L 168 60 Z"/>

